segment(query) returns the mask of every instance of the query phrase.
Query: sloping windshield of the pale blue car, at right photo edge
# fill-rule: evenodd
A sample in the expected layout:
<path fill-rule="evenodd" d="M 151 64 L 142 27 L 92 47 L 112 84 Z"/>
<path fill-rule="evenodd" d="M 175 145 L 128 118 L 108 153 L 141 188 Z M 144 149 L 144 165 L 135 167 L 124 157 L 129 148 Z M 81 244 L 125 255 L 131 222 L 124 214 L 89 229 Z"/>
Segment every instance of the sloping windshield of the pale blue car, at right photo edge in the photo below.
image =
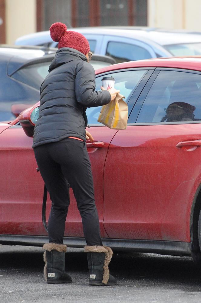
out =
<path fill-rule="evenodd" d="M 195 56 L 201 55 L 201 43 L 181 43 L 164 45 L 173 56 Z"/>

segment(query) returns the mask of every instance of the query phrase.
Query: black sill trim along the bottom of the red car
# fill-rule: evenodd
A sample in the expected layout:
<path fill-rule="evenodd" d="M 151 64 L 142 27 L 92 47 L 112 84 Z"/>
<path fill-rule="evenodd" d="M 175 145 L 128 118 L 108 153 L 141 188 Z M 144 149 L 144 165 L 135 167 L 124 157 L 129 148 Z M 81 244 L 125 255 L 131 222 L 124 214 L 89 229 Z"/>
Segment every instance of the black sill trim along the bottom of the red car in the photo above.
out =
<path fill-rule="evenodd" d="M 102 239 L 103 245 L 113 250 L 136 251 L 154 254 L 166 254 L 176 256 L 190 256 L 191 243 L 178 241 L 156 241 L 156 240 L 123 240 Z M 48 236 L 26 236 L 26 235 L 0 235 L 0 244 L 4 245 L 28 245 L 43 246 L 48 242 Z M 84 238 L 64 237 L 64 244 L 68 247 L 84 247 Z"/>

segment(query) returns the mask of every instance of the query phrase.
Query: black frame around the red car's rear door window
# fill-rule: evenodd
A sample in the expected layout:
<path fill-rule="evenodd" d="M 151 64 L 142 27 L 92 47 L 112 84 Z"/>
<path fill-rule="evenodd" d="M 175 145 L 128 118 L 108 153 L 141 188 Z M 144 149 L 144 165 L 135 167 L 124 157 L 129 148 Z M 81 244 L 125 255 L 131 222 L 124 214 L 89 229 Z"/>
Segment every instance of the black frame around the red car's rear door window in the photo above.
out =
<path fill-rule="evenodd" d="M 197 124 L 201 123 L 201 120 L 199 121 L 174 121 L 174 122 L 145 122 L 145 123 L 136 123 L 138 115 L 140 113 L 140 110 L 144 104 L 144 101 L 147 97 L 147 94 L 149 93 L 154 81 L 156 80 L 157 76 L 159 75 L 160 71 L 166 70 L 166 71 L 178 71 L 178 72 L 185 72 L 185 73 L 194 73 L 201 75 L 200 71 L 197 70 L 187 70 L 183 68 L 171 68 L 171 67 L 156 67 L 155 71 L 151 75 L 150 79 L 147 81 L 144 89 L 140 93 L 137 101 L 133 105 L 133 108 L 130 112 L 130 115 L 128 117 L 128 123 L 127 126 L 131 125 L 168 125 L 168 124 Z M 131 120 L 135 122 L 130 122 Z"/>

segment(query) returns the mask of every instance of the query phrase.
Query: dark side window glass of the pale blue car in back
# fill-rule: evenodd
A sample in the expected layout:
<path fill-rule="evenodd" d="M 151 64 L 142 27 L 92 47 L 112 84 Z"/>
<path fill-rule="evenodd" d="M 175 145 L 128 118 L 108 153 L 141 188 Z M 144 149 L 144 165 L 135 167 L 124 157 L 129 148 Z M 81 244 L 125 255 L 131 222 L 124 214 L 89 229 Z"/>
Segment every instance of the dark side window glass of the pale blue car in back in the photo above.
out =
<path fill-rule="evenodd" d="M 114 58 L 117 63 L 152 57 L 147 49 L 141 46 L 113 41 L 108 42 L 106 55 Z"/>

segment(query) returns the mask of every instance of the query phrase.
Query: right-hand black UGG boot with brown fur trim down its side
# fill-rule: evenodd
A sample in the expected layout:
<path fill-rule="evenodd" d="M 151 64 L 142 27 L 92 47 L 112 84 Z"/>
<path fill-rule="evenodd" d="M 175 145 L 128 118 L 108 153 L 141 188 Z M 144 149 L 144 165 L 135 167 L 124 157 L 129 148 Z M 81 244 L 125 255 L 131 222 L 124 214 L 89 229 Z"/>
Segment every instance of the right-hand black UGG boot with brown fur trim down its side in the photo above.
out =
<path fill-rule="evenodd" d="M 89 285 L 105 286 L 116 285 L 117 280 L 110 275 L 108 265 L 113 255 L 113 251 L 107 246 L 85 246 L 89 267 Z"/>

